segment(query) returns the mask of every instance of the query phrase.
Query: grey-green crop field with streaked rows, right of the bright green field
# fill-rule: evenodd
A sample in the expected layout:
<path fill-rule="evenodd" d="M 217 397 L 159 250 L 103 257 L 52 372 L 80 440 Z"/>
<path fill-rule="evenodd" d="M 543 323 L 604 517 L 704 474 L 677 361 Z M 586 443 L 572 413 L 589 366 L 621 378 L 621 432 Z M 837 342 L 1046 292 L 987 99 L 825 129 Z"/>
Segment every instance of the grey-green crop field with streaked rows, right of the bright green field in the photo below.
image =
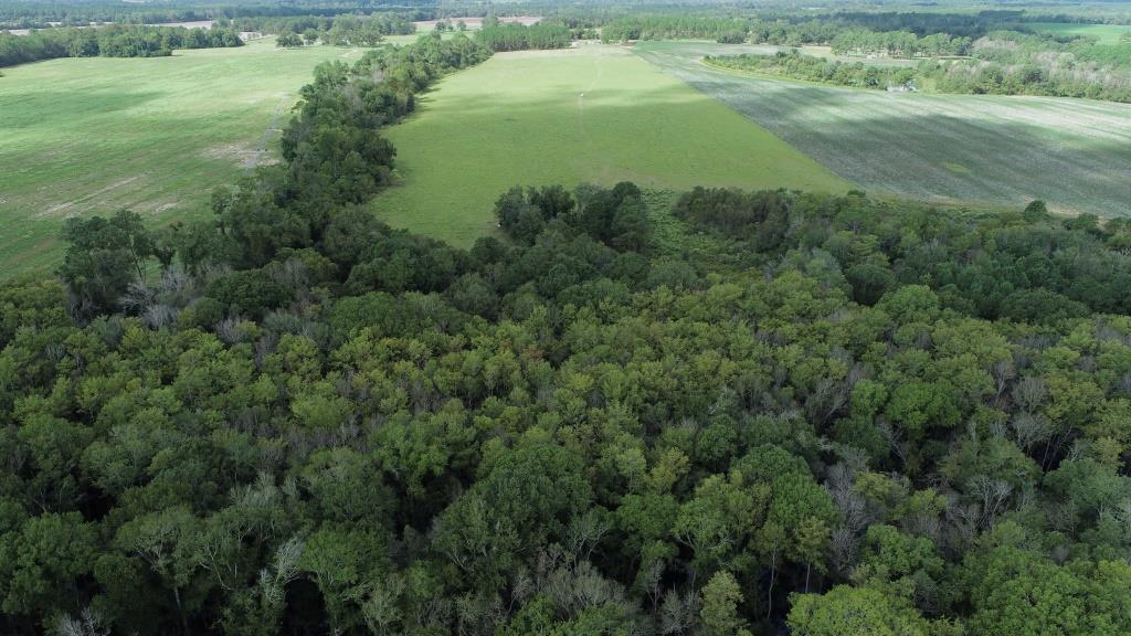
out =
<path fill-rule="evenodd" d="M 752 48 L 641 42 L 634 52 L 872 192 L 986 207 L 1044 199 L 1068 214 L 1131 214 L 1129 104 L 896 94 L 700 62 L 744 49 Z"/>

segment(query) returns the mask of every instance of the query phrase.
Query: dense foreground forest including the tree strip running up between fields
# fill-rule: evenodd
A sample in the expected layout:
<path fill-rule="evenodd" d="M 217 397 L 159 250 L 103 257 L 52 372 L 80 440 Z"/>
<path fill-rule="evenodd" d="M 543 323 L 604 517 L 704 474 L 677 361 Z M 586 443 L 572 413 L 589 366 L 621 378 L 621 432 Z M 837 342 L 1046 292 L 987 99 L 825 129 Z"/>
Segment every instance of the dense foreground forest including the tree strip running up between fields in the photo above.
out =
<path fill-rule="evenodd" d="M 343 186 L 458 40 L 0 285 L 0 633 L 1131 629 L 1126 224 L 697 188 L 692 250 L 625 182 L 465 252 Z"/>

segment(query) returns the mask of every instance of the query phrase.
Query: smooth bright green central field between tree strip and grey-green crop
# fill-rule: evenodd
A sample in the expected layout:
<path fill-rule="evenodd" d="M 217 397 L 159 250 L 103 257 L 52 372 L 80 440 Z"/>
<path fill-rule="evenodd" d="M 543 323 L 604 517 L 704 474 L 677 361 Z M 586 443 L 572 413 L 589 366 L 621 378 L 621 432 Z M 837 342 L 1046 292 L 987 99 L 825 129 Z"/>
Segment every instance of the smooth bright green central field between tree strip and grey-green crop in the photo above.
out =
<path fill-rule="evenodd" d="M 403 184 L 377 215 L 459 246 L 494 229 L 494 200 L 516 184 L 849 187 L 619 46 L 498 54 L 441 80 L 387 135 Z"/>

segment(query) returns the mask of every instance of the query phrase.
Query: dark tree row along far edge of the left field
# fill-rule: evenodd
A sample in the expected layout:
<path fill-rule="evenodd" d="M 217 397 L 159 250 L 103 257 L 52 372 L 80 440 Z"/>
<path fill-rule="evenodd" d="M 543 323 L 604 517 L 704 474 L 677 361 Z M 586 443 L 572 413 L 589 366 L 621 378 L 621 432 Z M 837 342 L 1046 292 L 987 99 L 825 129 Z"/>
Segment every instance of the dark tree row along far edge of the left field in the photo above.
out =
<path fill-rule="evenodd" d="M 54 58 L 155 58 L 173 49 L 242 46 L 232 28 L 183 28 L 109 25 L 97 28 L 48 28 L 28 35 L 0 32 L 0 67 Z"/>

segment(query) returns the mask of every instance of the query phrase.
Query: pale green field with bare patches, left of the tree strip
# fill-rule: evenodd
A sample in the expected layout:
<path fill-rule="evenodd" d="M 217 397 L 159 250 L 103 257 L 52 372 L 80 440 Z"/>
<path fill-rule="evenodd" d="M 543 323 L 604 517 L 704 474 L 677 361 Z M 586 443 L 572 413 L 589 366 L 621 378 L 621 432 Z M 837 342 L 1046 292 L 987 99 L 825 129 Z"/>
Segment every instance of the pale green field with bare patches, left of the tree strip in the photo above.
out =
<path fill-rule="evenodd" d="M 51 268 L 69 216 L 201 215 L 209 190 L 270 160 L 313 68 L 360 51 L 274 38 L 171 58 L 60 59 L 0 77 L 0 277 Z"/>

